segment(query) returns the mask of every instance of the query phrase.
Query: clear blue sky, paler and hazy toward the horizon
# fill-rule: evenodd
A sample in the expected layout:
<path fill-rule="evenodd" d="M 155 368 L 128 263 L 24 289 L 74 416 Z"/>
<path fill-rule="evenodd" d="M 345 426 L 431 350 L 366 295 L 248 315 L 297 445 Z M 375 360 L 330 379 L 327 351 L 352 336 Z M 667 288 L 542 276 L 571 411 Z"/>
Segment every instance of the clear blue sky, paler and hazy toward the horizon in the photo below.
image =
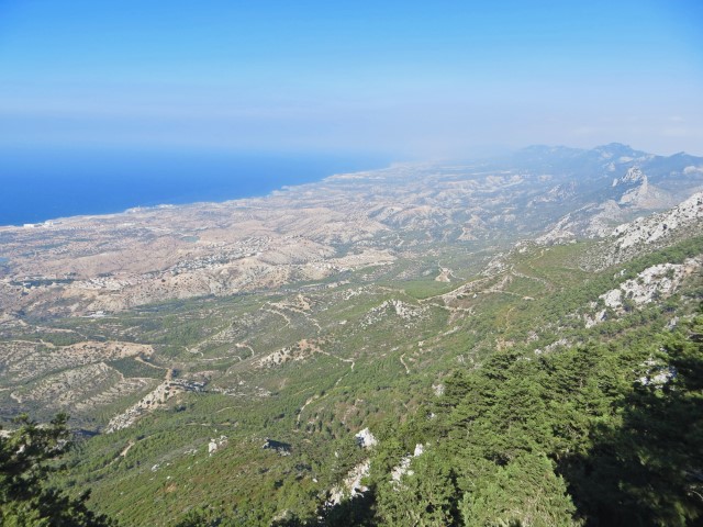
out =
<path fill-rule="evenodd" d="M 0 149 L 703 155 L 703 2 L 0 0 Z"/>

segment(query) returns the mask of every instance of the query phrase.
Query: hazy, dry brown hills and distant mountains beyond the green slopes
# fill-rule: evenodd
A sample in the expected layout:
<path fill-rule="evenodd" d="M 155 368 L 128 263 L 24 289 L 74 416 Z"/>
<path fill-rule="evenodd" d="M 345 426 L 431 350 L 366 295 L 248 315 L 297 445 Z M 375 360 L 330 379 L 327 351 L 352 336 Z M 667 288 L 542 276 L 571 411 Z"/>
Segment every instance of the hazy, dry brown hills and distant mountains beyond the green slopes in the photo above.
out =
<path fill-rule="evenodd" d="M 521 237 L 598 237 L 701 188 L 703 158 L 535 146 L 333 176 L 264 198 L 0 227 L 0 309 L 86 315 L 330 280 L 437 243 L 471 251 Z"/>

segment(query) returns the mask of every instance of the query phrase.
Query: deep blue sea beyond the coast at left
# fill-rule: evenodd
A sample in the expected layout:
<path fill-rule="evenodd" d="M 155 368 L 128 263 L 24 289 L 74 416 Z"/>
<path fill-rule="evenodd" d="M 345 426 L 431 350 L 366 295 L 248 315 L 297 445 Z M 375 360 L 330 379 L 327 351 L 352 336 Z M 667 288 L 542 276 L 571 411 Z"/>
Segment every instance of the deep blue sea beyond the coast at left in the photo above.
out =
<path fill-rule="evenodd" d="M 0 225 L 265 195 L 390 161 L 355 153 L 1 152 Z"/>

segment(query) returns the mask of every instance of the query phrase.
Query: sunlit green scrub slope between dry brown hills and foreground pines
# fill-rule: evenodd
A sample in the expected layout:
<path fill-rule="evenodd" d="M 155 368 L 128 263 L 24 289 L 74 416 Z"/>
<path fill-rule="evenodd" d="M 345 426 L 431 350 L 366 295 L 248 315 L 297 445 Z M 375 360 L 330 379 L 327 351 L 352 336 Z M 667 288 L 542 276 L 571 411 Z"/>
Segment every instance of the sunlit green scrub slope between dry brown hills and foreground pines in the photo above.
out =
<path fill-rule="evenodd" d="M 304 305 L 294 294 L 255 305 L 176 307 L 181 328 L 213 325 L 183 329 L 197 336 L 183 349 L 161 345 L 160 360 L 179 365 L 183 379 L 207 379 L 205 389 L 179 393 L 131 427 L 91 439 L 74 474 L 92 485 L 99 507 L 127 525 L 144 518 L 167 525 L 200 503 L 236 506 L 263 525 L 284 509 L 308 514 L 365 457 L 354 434 L 402 422 L 436 396 L 449 372 L 480 368 L 496 351 L 539 356 L 646 338 L 695 309 L 700 238 L 585 271 L 579 262 L 594 248 L 525 245 L 501 258 L 502 270 L 422 300 L 401 282 L 310 293 Z M 691 270 L 656 300 L 610 307 L 600 299 L 665 262 Z M 161 333 L 159 317 L 163 324 L 172 316 L 155 315 L 153 335 Z M 253 321 L 265 329 L 253 329 Z M 261 449 L 266 438 L 287 445 L 289 455 Z M 219 445 L 212 456 L 211 439 Z"/>

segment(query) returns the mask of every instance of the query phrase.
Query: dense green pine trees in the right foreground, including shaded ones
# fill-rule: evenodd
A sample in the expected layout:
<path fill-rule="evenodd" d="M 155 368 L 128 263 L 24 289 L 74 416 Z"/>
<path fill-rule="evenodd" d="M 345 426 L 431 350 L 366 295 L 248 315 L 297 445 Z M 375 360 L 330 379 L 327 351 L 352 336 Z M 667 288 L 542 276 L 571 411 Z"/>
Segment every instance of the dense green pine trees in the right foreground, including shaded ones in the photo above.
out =
<path fill-rule="evenodd" d="M 699 316 L 674 334 L 634 327 L 610 345 L 500 352 L 455 371 L 395 436 L 397 452 L 427 445 L 412 475 L 389 481 L 399 459 L 381 441 L 376 519 L 693 525 L 703 514 L 702 336 Z"/>

